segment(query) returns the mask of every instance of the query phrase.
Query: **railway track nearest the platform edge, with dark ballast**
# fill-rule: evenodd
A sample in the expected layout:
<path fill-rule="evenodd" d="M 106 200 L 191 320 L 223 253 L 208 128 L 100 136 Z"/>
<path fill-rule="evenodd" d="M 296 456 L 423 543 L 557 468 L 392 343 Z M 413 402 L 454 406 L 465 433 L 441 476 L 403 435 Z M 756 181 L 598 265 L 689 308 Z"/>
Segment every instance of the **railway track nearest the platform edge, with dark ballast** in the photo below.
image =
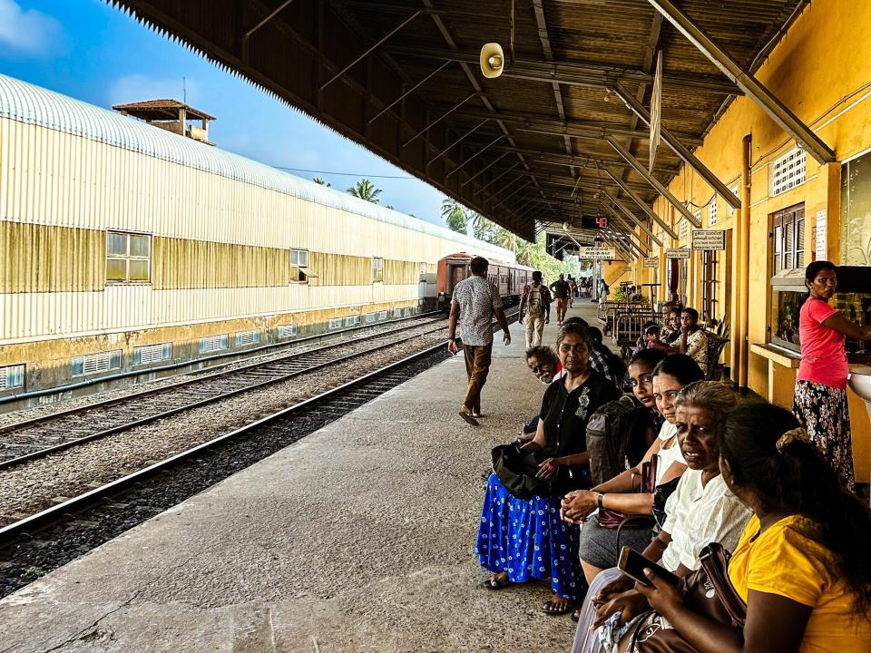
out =
<path fill-rule="evenodd" d="M 509 315 L 509 320 L 514 317 Z M 0 597 L 297 442 L 447 357 L 445 341 L 438 338 L 410 356 L 357 372 L 345 383 L 156 463 L 142 464 L 120 478 L 92 484 L 71 499 L 9 523 L 0 528 Z M 336 364 L 341 365 L 339 358 L 318 365 Z M 22 472 L 33 473 L 28 470 Z"/>

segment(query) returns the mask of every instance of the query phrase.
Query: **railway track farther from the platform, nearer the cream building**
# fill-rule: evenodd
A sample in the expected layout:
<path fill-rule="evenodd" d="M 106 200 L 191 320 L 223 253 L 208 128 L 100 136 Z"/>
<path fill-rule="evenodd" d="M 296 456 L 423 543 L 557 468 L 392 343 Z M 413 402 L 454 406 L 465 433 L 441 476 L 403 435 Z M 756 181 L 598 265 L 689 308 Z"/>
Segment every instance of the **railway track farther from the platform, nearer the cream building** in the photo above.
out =
<path fill-rule="evenodd" d="M 429 325 L 434 328 L 428 328 Z M 87 404 L 9 424 L 0 428 L 0 470 L 409 342 L 444 328 L 444 319 L 398 327 L 374 336 L 361 336 L 303 352 L 290 352 L 269 360 L 230 366 L 170 385 L 144 389 L 120 399 Z M 414 333 L 396 338 L 408 332 Z"/>

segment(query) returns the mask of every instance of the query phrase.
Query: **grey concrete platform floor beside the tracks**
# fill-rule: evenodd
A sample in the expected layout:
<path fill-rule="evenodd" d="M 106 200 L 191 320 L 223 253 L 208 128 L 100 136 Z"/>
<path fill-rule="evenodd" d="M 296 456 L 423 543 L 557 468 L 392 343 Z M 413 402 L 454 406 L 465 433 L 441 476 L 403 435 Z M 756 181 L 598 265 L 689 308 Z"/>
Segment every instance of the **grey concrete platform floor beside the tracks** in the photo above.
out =
<path fill-rule="evenodd" d="M 543 395 L 522 328 L 482 426 L 437 365 L 0 601 L 0 653 L 569 650 L 549 583 L 484 590 L 473 553 L 490 449 Z"/>

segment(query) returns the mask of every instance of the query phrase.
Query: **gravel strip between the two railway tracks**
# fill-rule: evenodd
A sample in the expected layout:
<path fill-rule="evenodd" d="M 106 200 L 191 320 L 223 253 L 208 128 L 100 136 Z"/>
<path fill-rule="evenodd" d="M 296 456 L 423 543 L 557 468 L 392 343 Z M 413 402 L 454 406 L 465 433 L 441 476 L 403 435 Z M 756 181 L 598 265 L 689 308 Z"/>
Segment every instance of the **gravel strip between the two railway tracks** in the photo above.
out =
<path fill-rule="evenodd" d="M 181 453 L 444 339 L 440 333 L 423 336 L 14 467 L 0 474 L 0 525 Z"/>

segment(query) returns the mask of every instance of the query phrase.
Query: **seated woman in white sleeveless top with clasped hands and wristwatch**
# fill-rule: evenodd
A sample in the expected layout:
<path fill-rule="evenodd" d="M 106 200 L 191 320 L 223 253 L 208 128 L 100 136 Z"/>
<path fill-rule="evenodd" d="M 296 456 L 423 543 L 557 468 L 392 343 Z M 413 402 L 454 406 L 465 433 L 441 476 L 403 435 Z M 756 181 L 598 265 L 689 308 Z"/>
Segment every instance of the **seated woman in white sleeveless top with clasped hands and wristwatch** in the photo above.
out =
<path fill-rule="evenodd" d="M 643 356 L 651 356 L 656 351 L 645 349 Z M 699 365 L 684 354 L 663 358 L 649 375 L 642 374 L 642 370 L 638 369 L 639 365 L 633 366 L 636 368 L 638 383 L 645 386 L 643 392 L 651 392 L 657 408 L 665 418 L 659 437 L 641 459 L 641 463 L 645 463 L 654 455 L 659 456 L 656 484 L 661 485 L 680 476 L 686 469 L 686 462 L 678 445 L 675 397 L 685 385 L 700 381 L 704 375 Z M 648 391 L 647 387 L 651 387 L 651 390 Z M 602 528 L 598 515 L 592 515 L 592 512 L 597 508 L 608 508 L 628 514 L 653 514 L 653 494 L 637 492 L 637 474 L 641 473 L 641 463 L 590 491 L 570 492 L 563 501 L 565 519 L 574 523 L 583 521 L 580 555 L 583 575 L 588 583 L 592 583 L 603 569 L 613 567 L 620 553 L 616 529 Z M 620 545 L 641 551 L 650 543 L 651 536 L 652 527 L 623 529 Z"/>

